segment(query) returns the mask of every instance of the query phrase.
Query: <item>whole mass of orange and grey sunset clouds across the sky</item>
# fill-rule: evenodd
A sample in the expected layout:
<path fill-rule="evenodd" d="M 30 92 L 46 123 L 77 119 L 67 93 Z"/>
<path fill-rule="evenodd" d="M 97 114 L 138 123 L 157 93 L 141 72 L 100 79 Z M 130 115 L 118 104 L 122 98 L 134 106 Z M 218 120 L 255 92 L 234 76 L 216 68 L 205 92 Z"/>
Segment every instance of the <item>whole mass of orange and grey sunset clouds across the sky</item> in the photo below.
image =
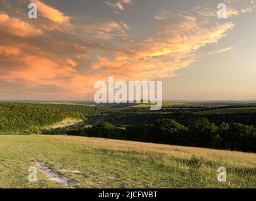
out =
<path fill-rule="evenodd" d="M 14 2 L 19 5 L 15 10 L 20 8 L 20 1 Z M 199 59 L 201 48 L 218 43 L 235 27 L 231 21 L 218 21 L 211 7 L 162 10 L 152 16 L 154 31 L 138 39 L 124 20 L 69 16 L 43 1 L 33 2 L 38 6 L 36 20 L 29 20 L 22 11 L 12 13 L 15 4 L 7 2 L 0 13 L 0 84 L 9 86 L 7 95 L 19 85 L 23 94 L 28 90 L 50 99 L 90 99 L 93 84 L 110 75 L 117 80 L 173 77 Z M 106 4 L 124 11 L 132 2 Z M 229 16 L 241 13 L 234 7 Z"/>

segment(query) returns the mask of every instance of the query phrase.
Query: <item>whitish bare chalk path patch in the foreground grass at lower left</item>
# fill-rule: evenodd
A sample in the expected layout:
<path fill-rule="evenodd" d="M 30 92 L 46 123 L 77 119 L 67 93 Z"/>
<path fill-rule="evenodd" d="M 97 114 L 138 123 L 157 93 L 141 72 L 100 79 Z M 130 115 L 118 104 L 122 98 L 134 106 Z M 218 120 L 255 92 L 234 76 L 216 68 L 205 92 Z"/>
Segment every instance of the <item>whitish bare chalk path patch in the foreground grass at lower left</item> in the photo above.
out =
<path fill-rule="evenodd" d="M 61 175 L 59 175 L 57 172 L 52 170 L 50 165 L 48 165 L 45 161 L 35 160 L 35 163 L 37 163 L 40 170 L 49 177 L 50 181 L 56 182 L 56 183 L 61 183 L 63 185 L 66 185 L 69 188 L 75 188 L 74 187 L 74 182 L 70 178 L 61 177 Z"/>

